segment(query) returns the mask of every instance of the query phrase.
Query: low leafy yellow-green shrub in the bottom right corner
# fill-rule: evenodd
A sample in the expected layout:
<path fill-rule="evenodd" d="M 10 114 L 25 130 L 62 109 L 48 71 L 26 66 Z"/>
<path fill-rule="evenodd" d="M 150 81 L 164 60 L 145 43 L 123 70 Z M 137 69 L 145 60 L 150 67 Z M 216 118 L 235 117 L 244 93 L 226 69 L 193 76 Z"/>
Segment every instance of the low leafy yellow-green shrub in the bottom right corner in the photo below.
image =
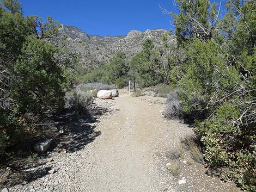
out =
<path fill-rule="evenodd" d="M 216 116 L 197 122 L 197 132 L 202 136 L 204 158 L 213 167 L 222 168 L 224 179 L 234 181 L 246 190 L 255 190 L 255 124 L 234 126 L 241 109 L 223 103 Z"/>

